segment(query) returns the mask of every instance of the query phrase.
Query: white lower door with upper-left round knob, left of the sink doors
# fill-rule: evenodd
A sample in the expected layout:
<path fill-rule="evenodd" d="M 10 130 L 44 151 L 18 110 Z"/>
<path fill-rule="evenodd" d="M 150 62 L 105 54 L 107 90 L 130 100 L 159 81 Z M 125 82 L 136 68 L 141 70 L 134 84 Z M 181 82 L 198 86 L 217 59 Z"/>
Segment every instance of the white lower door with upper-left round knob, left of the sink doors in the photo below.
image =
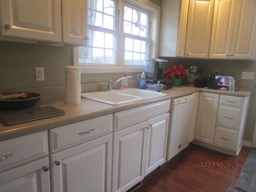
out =
<path fill-rule="evenodd" d="M 110 192 L 111 165 L 112 134 L 53 154 L 54 192 Z"/>

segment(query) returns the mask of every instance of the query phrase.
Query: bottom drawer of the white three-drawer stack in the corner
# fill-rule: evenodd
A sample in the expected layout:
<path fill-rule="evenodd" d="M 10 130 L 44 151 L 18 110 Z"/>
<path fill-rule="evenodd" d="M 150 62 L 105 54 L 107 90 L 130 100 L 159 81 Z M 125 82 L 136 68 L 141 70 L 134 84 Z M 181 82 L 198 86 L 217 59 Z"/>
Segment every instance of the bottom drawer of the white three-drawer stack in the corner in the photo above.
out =
<path fill-rule="evenodd" d="M 236 151 L 239 131 L 216 126 L 214 145 Z"/>

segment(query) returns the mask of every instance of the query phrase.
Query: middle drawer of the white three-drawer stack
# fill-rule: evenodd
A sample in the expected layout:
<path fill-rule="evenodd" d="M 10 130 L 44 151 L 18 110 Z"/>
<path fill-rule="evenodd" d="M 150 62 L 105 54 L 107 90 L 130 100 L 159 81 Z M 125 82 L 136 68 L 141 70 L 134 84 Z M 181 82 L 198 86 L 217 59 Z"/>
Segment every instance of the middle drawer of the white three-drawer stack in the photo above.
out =
<path fill-rule="evenodd" d="M 243 109 L 241 108 L 220 105 L 218 110 L 217 125 L 239 130 L 242 113 Z"/>

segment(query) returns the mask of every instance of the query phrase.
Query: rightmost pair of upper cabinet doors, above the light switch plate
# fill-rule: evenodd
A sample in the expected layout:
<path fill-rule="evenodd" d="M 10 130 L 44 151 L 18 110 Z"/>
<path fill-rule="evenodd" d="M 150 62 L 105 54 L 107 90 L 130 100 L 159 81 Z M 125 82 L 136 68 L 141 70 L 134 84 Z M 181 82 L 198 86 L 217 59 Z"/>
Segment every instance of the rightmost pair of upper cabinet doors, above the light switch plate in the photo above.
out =
<path fill-rule="evenodd" d="M 209 58 L 254 59 L 255 28 L 255 0 L 216 0 Z"/>

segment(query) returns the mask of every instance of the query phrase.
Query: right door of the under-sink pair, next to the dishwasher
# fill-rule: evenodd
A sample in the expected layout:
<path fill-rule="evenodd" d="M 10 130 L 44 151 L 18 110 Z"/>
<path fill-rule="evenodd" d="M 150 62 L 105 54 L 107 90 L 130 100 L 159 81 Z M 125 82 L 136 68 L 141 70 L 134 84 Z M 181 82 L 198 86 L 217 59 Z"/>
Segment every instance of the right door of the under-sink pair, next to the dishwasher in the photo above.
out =
<path fill-rule="evenodd" d="M 170 113 L 148 121 L 145 176 L 166 161 Z"/>

